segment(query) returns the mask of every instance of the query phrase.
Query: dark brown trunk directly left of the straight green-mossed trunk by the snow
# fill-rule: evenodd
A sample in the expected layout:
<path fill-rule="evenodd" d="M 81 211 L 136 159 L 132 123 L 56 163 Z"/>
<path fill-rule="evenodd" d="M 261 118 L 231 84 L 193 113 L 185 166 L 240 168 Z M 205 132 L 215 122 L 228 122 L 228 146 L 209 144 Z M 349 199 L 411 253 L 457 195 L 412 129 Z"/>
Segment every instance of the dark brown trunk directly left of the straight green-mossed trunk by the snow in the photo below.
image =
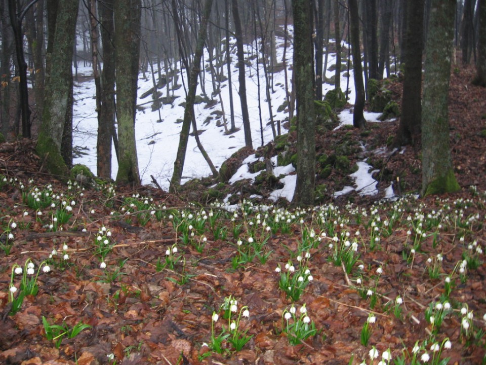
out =
<path fill-rule="evenodd" d="M 92 0 L 93 1 L 93 0 Z M 113 47 L 113 0 L 99 3 L 100 33 L 103 44 L 103 70 L 98 110 L 98 140 L 96 143 L 97 175 L 111 179 L 111 140 L 116 140 L 115 118 L 115 49 Z M 117 145 L 117 143 L 116 143 Z M 117 149 L 115 149 L 117 151 Z"/>

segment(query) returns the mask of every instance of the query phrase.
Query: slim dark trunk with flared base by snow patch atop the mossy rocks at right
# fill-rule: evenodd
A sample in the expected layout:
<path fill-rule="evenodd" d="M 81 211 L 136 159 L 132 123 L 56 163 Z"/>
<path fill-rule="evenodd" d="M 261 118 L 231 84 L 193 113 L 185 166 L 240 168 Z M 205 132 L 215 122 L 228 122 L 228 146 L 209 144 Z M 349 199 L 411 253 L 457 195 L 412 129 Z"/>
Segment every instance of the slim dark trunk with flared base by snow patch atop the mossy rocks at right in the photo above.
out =
<path fill-rule="evenodd" d="M 363 84 L 363 69 L 361 66 L 361 49 L 359 47 L 359 15 L 357 0 L 348 0 L 350 17 L 350 36 L 351 49 L 353 52 L 354 88 L 356 90 L 356 100 L 354 101 L 353 126 L 362 128 L 366 124 L 363 116 L 365 108 L 366 94 Z"/>

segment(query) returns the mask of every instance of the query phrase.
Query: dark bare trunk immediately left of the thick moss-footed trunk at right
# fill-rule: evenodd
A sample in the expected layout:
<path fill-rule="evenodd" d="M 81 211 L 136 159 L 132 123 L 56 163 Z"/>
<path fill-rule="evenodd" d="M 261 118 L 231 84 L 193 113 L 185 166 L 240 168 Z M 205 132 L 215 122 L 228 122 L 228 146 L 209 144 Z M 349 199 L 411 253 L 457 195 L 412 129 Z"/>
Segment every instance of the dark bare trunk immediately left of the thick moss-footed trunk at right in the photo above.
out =
<path fill-rule="evenodd" d="M 420 145 L 422 125 L 422 36 L 424 0 L 410 0 L 405 30 L 404 79 L 401 116 L 394 145 Z"/>

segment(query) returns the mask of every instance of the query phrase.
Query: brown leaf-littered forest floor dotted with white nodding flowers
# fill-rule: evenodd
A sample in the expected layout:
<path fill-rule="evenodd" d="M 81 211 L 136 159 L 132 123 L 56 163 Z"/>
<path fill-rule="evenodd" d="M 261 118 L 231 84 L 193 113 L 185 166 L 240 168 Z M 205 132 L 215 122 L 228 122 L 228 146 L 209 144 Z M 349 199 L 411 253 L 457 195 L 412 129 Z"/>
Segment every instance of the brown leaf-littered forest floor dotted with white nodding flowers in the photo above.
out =
<path fill-rule="evenodd" d="M 471 76 L 452 75 L 463 189 L 446 196 L 404 194 L 420 190 L 412 148 L 382 166 L 405 180 L 396 201 L 228 211 L 61 184 L 31 143 L 1 144 L 0 363 L 486 363 L 486 93 Z M 328 137 L 385 147 L 396 127 Z M 335 175 L 330 192 L 347 184 Z"/>

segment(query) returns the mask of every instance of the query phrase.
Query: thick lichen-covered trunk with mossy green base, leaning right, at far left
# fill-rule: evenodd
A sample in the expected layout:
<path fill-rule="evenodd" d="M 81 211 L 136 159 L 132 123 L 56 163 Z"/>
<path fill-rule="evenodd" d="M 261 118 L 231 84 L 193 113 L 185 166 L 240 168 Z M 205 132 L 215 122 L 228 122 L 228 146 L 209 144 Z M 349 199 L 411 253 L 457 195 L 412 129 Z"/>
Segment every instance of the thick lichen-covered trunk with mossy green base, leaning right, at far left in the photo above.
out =
<path fill-rule="evenodd" d="M 68 174 L 67 166 L 72 159 L 72 156 L 66 156 L 66 138 L 72 136 L 72 129 L 65 131 L 64 128 L 69 125 L 66 120 L 72 117 L 71 62 L 78 7 L 76 1 L 59 0 L 57 8 L 50 8 L 49 65 L 46 67 L 46 93 L 36 147 L 39 155 L 47 158 L 49 172 L 64 176 Z"/>

